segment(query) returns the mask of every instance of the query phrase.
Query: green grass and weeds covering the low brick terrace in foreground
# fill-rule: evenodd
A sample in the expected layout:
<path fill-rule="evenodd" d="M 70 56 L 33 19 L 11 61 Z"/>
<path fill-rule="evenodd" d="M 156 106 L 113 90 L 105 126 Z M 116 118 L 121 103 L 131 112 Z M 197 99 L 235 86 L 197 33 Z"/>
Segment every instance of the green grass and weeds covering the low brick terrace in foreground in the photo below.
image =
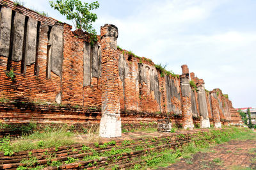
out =
<path fill-rule="evenodd" d="M 145 125 L 145 123 L 141 122 L 141 125 Z M 61 132 L 61 130 L 63 132 Z M 44 132 L 42 133 L 42 135 L 39 132 L 35 132 L 34 134 L 31 135 L 25 135 L 24 137 L 22 137 L 21 139 L 19 139 L 18 141 L 24 142 L 26 141 L 26 143 L 32 144 L 33 146 L 35 146 L 34 148 L 45 148 L 47 147 L 47 143 L 46 141 L 51 141 L 51 144 L 53 143 L 54 146 L 61 146 L 59 141 L 56 141 L 56 139 L 52 138 L 51 135 L 46 135 L 47 133 L 64 133 L 63 135 L 58 135 L 57 138 L 61 139 L 61 141 L 66 141 L 65 137 L 74 137 L 72 135 L 71 132 L 67 132 L 67 127 L 66 128 L 62 128 L 62 129 L 56 129 L 56 128 L 47 128 L 47 131 L 49 132 Z M 143 154 L 143 156 L 138 157 L 138 160 L 145 160 L 145 164 L 141 164 L 140 166 L 138 165 L 134 165 L 134 169 L 143 169 L 143 168 L 154 168 L 154 167 L 159 167 L 159 166 L 168 166 L 170 163 L 174 163 L 177 161 L 177 158 L 179 157 L 183 157 L 186 158 L 188 160 L 186 160 L 186 162 L 188 164 L 193 164 L 192 159 L 191 159 L 191 154 L 196 153 L 198 151 L 202 151 L 202 150 L 207 150 L 210 147 L 209 143 L 223 143 L 225 141 L 228 141 L 230 139 L 248 139 L 248 138 L 252 138 L 253 132 L 251 130 L 246 130 L 246 129 L 242 129 L 242 128 L 228 128 L 225 130 L 209 130 L 209 132 L 200 132 L 197 134 L 191 134 L 191 135 L 184 135 L 184 134 L 179 134 L 176 135 L 175 137 L 177 138 L 184 138 L 184 137 L 191 137 L 191 142 L 183 145 L 182 148 L 177 148 L 176 150 L 172 150 L 172 149 L 166 149 L 166 150 L 150 150 L 150 148 L 154 148 L 156 146 L 161 146 L 164 143 L 168 143 L 168 140 L 171 140 L 169 138 L 164 138 L 164 139 L 157 139 L 157 138 L 148 138 L 143 140 L 145 142 L 145 144 L 136 144 L 136 146 L 132 147 L 129 146 L 133 143 L 140 143 L 140 141 L 131 141 L 131 140 L 125 140 L 123 141 L 122 144 L 120 145 L 116 145 L 116 141 L 109 141 L 107 143 L 98 143 L 95 142 L 95 147 L 97 147 L 97 149 L 93 149 L 90 148 L 86 145 L 83 145 L 81 150 L 84 151 L 84 153 L 87 152 L 92 152 L 92 155 L 86 155 L 86 157 L 83 158 L 83 161 L 88 161 L 88 160 L 93 160 L 93 162 L 89 165 L 89 166 L 97 166 L 97 161 L 101 158 L 101 157 L 107 157 L 108 160 L 106 161 L 106 165 L 109 164 L 109 166 L 111 164 L 113 164 L 113 162 L 116 162 L 116 160 L 119 160 L 124 153 L 131 153 L 134 151 L 145 151 L 145 154 Z M 54 134 L 56 135 L 56 134 Z M 49 136 L 49 137 L 48 137 Z M 52 140 L 49 140 L 49 139 Z M 33 141 L 28 141 L 30 139 L 33 139 Z M 69 138 L 68 138 L 69 139 Z M 157 144 L 154 144 L 154 142 L 157 142 Z M 152 144 L 153 143 L 153 144 Z M 6 146 L 4 146 L 4 148 L 8 148 L 10 151 L 13 151 L 13 144 L 17 144 L 17 141 L 13 141 L 12 143 L 10 143 L 10 139 L 7 140 L 7 144 Z M 49 145 L 51 145 L 49 144 Z M 26 145 L 26 144 L 25 144 Z M 67 144 L 65 144 L 67 145 Z M 102 149 L 106 149 L 108 148 L 108 146 L 113 146 L 111 149 L 107 149 L 107 150 L 101 150 L 98 151 L 99 148 Z M 29 146 L 31 147 L 31 146 Z M 93 146 L 94 147 L 94 146 Z M 26 147 L 25 147 L 26 148 Z M 31 147 L 33 148 L 33 147 Z M 29 148 L 29 149 L 31 149 Z M 58 148 L 58 147 L 57 147 Z M 146 150 L 145 150 L 146 149 Z M 2 148 L 1 148 L 2 150 Z M 21 150 L 19 147 L 15 148 L 15 150 Z M 74 149 L 73 149 L 74 150 Z M 82 153 L 81 151 L 81 153 Z M 254 150 L 252 150 L 254 151 Z M 56 154 L 52 154 L 49 155 L 49 153 L 44 153 L 46 155 L 47 160 L 47 164 L 48 166 L 60 166 L 61 164 L 63 164 L 63 162 L 58 162 L 58 161 L 51 161 L 52 158 L 56 157 Z M 31 164 L 35 164 L 36 162 L 36 158 L 32 156 L 32 152 L 28 153 L 28 158 L 22 160 L 22 162 L 24 164 L 27 165 L 31 165 Z M 72 162 L 76 162 L 78 159 L 77 158 L 73 158 L 73 157 L 68 157 L 68 160 L 65 161 L 65 164 L 70 164 Z M 131 160 L 133 161 L 133 160 Z M 215 162 L 216 164 L 222 164 L 221 160 L 218 159 L 214 159 L 213 162 Z M 110 164 L 111 163 L 111 164 Z M 207 165 L 205 165 L 207 166 Z M 111 166 L 110 166 L 111 167 Z M 19 167 L 19 169 L 24 169 L 26 167 Z M 37 167 L 36 167 L 37 168 Z M 39 168 L 39 167 L 38 167 Z M 116 167 L 118 168 L 118 167 Z"/>

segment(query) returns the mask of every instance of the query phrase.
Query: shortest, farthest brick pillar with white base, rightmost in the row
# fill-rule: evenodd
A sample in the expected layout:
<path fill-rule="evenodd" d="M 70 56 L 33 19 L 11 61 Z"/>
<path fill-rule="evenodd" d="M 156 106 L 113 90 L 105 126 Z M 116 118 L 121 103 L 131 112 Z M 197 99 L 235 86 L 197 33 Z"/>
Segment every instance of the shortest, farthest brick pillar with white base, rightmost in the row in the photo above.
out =
<path fill-rule="evenodd" d="M 214 127 L 221 128 L 219 102 L 217 99 L 217 94 L 215 91 L 212 91 L 210 96 L 212 101 L 212 117 L 214 121 Z"/>

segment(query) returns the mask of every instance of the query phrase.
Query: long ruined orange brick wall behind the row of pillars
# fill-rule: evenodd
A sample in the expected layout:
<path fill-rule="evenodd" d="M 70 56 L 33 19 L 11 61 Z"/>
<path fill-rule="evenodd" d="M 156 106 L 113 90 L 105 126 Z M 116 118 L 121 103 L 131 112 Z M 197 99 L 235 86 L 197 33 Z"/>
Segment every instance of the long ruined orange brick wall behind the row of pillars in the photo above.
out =
<path fill-rule="evenodd" d="M 0 97 L 9 102 L 19 102 L 20 105 L 23 102 L 37 105 L 60 104 L 61 107 L 73 105 L 83 108 L 83 112 L 87 112 L 84 111 L 86 109 L 96 109 L 100 113 L 100 36 L 99 42 L 91 45 L 86 34 L 79 38 L 68 24 L 44 17 L 28 8 L 15 6 L 12 1 L 0 0 L 0 6 Z M 182 120 L 184 101 L 182 102 L 180 77 L 165 75 L 157 70 L 150 59 L 138 58 L 126 50 L 116 49 L 116 54 L 121 116 L 131 116 L 132 113 L 140 118 L 134 116 L 130 120 L 122 120 L 131 123 L 166 116 L 172 120 Z M 6 76 L 12 70 L 15 80 Z M 195 84 L 198 83 L 195 73 L 191 73 L 190 77 Z M 189 81 L 189 77 L 186 78 Z M 188 91 L 192 114 L 188 117 L 197 119 L 200 117 L 198 91 L 191 86 L 188 86 Z M 231 102 L 223 97 L 222 92 L 219 93 L 214 99 L 209 93 L 205 93 L 210 120 L 214 120 L 216 111 L 222 122 L 233 119 L 236 123 L 239 122 L 239 116 L 233 110 Z M 12 113 L 11 109 L 8 112 Z M 54 120 L 54 114 L 47 120 Z M 70 114 L 73 114 L 72 111 Z M 154 118 L 142 118 L 144 114 L 153 114 Z M 8 115 L 7 118 L 12 118 L 12 114 Z M 72 118 L 72 123 L 79 120 L 77 116 L 66 117 L 70 120 Z M 29 116 L 26 119 L 29 120 Z M 93 118 L 87 120 L 93 121 Z M 96 122 L 99 123 L 99 120 Z"/>

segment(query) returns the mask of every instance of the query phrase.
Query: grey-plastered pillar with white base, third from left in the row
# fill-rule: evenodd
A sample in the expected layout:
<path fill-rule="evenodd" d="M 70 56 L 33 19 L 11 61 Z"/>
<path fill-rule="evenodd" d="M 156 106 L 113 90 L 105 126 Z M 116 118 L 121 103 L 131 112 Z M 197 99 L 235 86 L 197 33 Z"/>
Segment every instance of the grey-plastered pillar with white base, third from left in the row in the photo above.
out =
<path fill-rule="evenodd" d="M 200 127 L 201 128 L 209 128 L 210 127 L 210 120 L 208 115 L 208 108 L 207 102 L 205 97 L 205 88 L 204 88 L 204 80 L 199 79 L 198 83 L 196 84 L 196 88 L 198 89 L 198 105 L 199 105 L 199 112 L 200 112 Z"/>

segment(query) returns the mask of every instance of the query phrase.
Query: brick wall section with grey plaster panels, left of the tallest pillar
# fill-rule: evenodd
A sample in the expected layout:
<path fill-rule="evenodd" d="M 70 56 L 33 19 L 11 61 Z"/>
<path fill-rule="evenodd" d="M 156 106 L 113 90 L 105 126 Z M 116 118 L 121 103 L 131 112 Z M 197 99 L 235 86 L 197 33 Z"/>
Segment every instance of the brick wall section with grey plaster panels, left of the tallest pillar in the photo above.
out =
<path fill-rule="evenodd" d="M 0 33 L 6 36 L 0 38 L 1 97 L 100 106 L 100 45 L 77 38 L 67 24 L 3 2 Z M 15 81 L 5 75 L 11 69 Z"/>

